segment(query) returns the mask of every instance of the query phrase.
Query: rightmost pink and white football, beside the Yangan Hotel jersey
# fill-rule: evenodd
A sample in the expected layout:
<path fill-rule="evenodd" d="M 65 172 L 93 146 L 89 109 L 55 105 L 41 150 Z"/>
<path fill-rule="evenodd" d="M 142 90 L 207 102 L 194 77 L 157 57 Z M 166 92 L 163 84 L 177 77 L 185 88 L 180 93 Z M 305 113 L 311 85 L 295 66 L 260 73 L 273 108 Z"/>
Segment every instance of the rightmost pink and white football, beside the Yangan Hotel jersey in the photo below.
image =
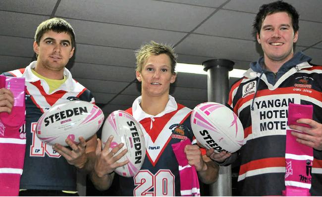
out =
<path fill-rule="evenodd" d="M 216 153 L 233 153 L 243 145 L 242 123 L 233 111 L 219 103 L 197 105 L 191 114 L 191 128 L 198 142 Z"/>

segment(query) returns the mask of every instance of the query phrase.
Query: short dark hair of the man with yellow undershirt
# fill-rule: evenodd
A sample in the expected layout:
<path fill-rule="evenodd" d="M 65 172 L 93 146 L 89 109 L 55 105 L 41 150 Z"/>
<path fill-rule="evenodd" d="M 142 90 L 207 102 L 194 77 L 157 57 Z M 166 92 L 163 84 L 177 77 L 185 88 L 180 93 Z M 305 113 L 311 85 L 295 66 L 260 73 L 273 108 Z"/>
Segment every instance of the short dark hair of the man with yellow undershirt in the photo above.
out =
<path fill-rule="evenodd" d="M 51 18 L 46 21 L 43 21 L 37 27 L 36 34 L 35 34 L 35 41 L 37 42 L 38 45 L 40 43 L 40 39 L 42 38 L 42 36 L 49 31 L 54 31 L 56 33 L 65 32 L 69 34 L 71 39 L 71 47 L 73 48 L 75 46 L 75 32 L 71 27 L 71 25 L 64 19 Z"/>

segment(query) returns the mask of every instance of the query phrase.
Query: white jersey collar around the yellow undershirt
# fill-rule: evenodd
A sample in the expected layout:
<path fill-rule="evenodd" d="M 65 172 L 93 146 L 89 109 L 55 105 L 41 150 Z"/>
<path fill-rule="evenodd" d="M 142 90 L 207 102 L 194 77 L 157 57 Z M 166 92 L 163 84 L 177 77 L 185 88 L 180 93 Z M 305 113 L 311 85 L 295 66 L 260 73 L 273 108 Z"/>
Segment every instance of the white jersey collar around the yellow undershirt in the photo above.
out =
<path fill-rule="evenodd" d="M 41 80 L 41 84 L 44 87 L 44 90 L 47 94 L 49 93 L 49 85 L 47 84 L 45 79 L 40 79 L 39 77 L 37 77 L 36 75 L 34 75 L 31 71 L 31 69 L 35 68 L 37 64 L 37 61 L 33 61 L 31 62 L 25 69 L 25 72 L 22 74 L 22 77 L 24 77 L 26 79 L 26 81 L 28 82 L 34 82 L 34 81 L 38 81 Z M 75 88 L 75 82 L 74 79 L 71 76 L 71 73 L 68 71 L 68 69 L 64 68 L 64 76 L 66 76 L 66 81 L 60 85 L 60 87 L 57 90 L 64 90 L 64 91 L 72 91 Z M 53 92 L 55 92 L 53 91 Z M 52 92 L 52 93 L 53 93 Z"/>

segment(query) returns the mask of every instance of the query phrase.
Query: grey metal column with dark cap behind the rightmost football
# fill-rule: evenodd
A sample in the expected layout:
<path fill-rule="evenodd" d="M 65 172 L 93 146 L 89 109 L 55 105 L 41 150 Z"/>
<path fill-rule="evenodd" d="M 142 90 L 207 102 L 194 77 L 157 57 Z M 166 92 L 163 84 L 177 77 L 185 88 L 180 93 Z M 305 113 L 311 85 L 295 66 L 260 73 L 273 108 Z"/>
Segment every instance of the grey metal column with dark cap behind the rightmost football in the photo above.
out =
<path fill-rule="evenodd" d="M 212 59 L 202 63 L 208 73 L 208 101 L 225 104 L 229 92 L 228 72 L 234 62 L 227 59 Z M 231 196 L 231 166 L 221 166 L 218 180 L 210 186 L 210 196 Z"/>

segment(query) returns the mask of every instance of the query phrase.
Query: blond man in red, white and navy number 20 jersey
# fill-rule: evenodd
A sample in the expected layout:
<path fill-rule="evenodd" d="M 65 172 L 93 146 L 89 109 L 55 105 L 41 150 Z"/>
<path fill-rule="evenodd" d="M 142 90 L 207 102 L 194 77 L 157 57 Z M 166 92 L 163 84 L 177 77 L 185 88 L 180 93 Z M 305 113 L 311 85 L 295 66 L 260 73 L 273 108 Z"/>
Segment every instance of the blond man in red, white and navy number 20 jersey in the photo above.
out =
<path fill-rule="evenodd" d="M 180 180 L 178 162 L 171 144 L 178 143 L 183 138 L 192 140 L 193 133 L 190 126 L 191 110 L 177 104 L 169 95 L 170 84 L 176 79 L 176 55 L 171 47 L 151 41 L 141 46 L 136 52 L 136 59 L 136 78 L 142 83 L 142 95 L 134 101 L 132 108 L 126 111 L 141 123 L 147 146 L 160 148 L 147 148 L 147 156 L 141 170 L 134 177 L 126 178 L 113 173 L 114 169 L 128 162 L 118 162 L 127 151 L 117 154 L 124 145 L 119 144 L 109 152 L 112 137 L 108 138 L 103 150 L 98 139 L 97 160 L 91 178 L 99 190 L 107 190 L 114 176 L 118 176 L 119 184 L 115 190 L 119 196 L 180 196 L 183 194 L 180 193 L 180 182 L 190 183 L 192 180 Z M 172 126 L 165 127 L 165 123 L 180 126 L 180 137 L 173 137 L 178 135 L 171 135 Z M 215 182 L 218 166 L 206 155 L 201 154 L 199 146 L 187 145 L 184 152 L 189 164 L 195 166 L 200 180 L 206 184 Z M 160 171 L 163 181 L 159 181 Z M 149 190 L 144 190 L 145 187 Z"/>

